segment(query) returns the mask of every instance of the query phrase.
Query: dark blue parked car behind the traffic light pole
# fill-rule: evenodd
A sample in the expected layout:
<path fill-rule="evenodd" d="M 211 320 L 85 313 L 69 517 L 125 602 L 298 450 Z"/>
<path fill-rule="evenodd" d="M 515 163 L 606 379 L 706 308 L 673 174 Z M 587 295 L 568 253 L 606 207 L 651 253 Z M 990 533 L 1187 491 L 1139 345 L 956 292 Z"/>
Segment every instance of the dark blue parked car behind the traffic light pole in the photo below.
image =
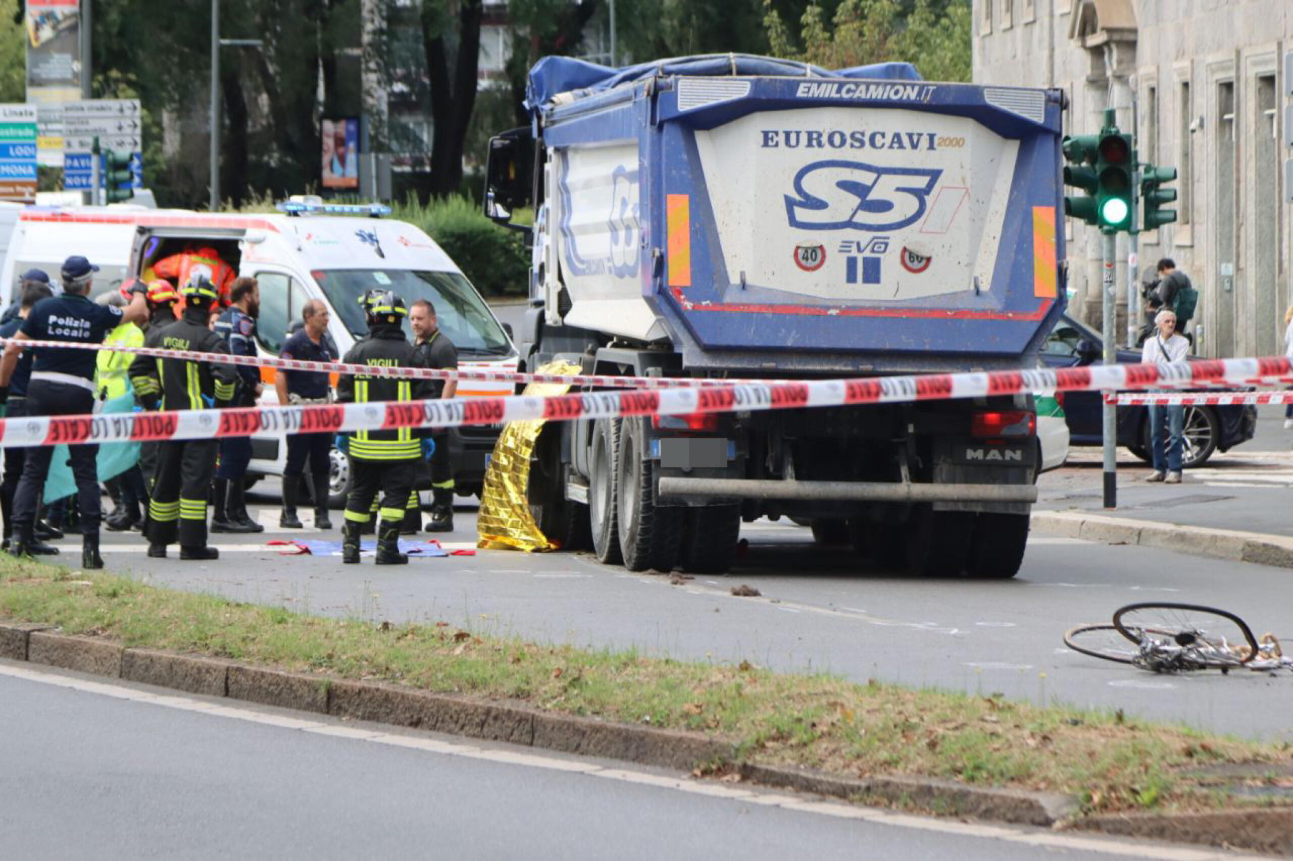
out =
<path fill-rule="evenodd" d="M 1042 345 L 1046 367 L 1103 365 L 1100 335 L 1068 314 L 1060 317 Z M 1138 365 L 1139 350 L 1118 349 L 1120 365 Z M 1064 419 L 1069 442 L 1098 446 L 1103 442 L 1103 396 L 1100 392 L 1068 392 Z M 1214 451 L 1228 451 L 1253 438 L 1257 429 L 1254 406 L 1187 406 L 1182 464 L 1192 469 L 1208 462 Z M 1149 460 L 1149 411 L 1143 406 L 1118 407 L 1118 445 L 1142 460 Z"/>

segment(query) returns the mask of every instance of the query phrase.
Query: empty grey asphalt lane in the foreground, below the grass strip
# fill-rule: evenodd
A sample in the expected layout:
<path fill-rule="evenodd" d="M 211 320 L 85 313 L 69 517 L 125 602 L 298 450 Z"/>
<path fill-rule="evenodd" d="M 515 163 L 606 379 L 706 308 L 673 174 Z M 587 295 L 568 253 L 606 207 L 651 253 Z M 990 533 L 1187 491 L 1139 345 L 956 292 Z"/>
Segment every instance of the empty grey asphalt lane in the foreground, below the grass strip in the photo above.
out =
<path fill-rule="evenodd" d="M 811 845 L 813 858 L 1228 857 L 158 694 L 0 662 L 0 855 L 781 861 Z"/>

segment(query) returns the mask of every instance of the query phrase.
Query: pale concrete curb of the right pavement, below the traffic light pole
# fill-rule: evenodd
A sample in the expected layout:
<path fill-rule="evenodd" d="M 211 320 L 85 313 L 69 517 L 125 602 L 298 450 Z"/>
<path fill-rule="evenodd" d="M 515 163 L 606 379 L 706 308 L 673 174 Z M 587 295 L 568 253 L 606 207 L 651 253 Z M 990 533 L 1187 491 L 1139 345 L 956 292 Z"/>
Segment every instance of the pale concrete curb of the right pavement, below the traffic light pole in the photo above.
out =
<path fill-rule="evenodd" d="M 1032 527 L 1051 535 L 1104 544 L 1134 544 L 1236 562 L 1293 568 L 1293 538 L 1283 535 L 1063 511 L 1034 511 Z"/>

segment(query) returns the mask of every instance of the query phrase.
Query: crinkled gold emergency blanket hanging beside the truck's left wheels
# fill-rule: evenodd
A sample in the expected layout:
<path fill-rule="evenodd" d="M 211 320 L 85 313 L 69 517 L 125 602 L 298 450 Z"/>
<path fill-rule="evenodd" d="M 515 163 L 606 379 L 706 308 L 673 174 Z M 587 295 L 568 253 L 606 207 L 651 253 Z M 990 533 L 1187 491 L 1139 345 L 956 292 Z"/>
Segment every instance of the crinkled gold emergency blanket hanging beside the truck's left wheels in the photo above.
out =
<path fill-rule="evenodd" d="M 579 366 L 570 362 L 548 362 L 538 374 L 578 374 Z M 530 383 L 525 394 L 565 394 L 570 389 L 562 383 Z M 481 508 L 476 516 L 476 530 L 481 549 L 556 549 L 534 516 L 530 513 L 528 487 L 530 484 L 530 455 L 546 423 L 508 421 L 494 443 L 494 456 L 485 471 L 485 489 Z"/>

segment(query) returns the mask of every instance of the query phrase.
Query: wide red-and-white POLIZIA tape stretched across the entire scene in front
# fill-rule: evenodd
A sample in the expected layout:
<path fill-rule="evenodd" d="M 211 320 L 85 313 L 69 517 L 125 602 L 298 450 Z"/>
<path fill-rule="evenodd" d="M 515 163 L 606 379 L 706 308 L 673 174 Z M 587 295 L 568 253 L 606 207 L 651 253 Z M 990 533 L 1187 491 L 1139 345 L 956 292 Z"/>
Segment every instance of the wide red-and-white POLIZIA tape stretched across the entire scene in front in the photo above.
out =
<path fill-rule="evenodd" d="M 535 419 L 568 421 L 909 403 L 1034 392 L 1137 389 L 1191 381 L 1244 384 L 1290 375 L 1293 363 L 1280 356 L 1262 359 L 1212 359 L 1188 365 L 1115 365 L 803 383 L 743 383 L 663 390 L 25 416 L 0 423 L 0 447 L 208 440 L 279 433 L 350 433 L 394 428 L 441 429 Z"/>

